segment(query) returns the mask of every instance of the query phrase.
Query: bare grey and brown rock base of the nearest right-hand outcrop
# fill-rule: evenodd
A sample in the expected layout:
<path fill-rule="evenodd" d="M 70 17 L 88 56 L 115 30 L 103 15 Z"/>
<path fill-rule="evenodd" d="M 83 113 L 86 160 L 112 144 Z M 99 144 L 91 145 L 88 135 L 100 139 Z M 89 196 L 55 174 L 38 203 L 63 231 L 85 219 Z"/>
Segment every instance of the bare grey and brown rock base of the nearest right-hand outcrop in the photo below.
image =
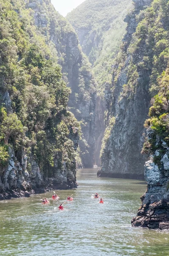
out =
<path fill-rule="evenodd" d="M 161 164 L 155 164 L 156 151 L 145 163 L 145 180 L 147 190 L 141 196 L 141 207 L 132 219 L 132 227 L 149 227 L 150 229 L 169 229 L 169 148 L 162 144 Z"/>

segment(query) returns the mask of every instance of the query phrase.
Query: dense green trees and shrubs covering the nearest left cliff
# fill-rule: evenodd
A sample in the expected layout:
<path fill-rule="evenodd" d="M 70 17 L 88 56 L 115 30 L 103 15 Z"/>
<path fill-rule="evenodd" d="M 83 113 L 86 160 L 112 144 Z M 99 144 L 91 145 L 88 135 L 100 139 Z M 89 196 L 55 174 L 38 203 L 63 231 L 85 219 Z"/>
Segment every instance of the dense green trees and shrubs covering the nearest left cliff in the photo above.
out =
<path fill-rule="evenodd" d="M 25 4 L 0 1 L 0 170 L 10 147 L 18 161 L 27 155 L 27 171 L 33 158 L 46 177 L 53 177 L 56 159 L 58 169 L 62 161 L 74 168 L 76 146 L 70 138 L 79 122 L 67 111 L 70 88 L 54 44 L 38 32 Z"/>

